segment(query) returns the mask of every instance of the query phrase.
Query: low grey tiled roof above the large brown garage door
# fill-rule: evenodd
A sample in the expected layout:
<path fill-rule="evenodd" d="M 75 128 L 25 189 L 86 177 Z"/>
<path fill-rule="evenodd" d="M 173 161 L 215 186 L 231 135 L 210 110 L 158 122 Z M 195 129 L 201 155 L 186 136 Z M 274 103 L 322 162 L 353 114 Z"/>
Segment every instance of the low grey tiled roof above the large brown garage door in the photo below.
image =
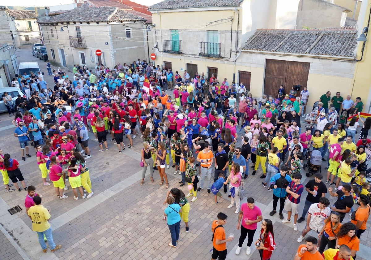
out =
<path fill-rule="evenodd" d="M 357 30 L 336 29 L 257 29 L 241 50 L 278 53 L 355 57 Z"/>

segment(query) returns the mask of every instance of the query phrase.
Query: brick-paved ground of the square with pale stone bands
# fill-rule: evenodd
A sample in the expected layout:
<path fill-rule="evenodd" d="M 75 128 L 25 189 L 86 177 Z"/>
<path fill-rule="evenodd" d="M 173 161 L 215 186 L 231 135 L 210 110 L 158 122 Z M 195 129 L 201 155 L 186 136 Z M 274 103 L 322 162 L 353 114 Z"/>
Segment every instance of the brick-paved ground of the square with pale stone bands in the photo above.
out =
<path fill-rule="evenodd" d="M 27 54 L 26 51 L 23 52 L 24 55 Z M 23 52 L 18 50 L 17 56 Z M 46 78 L 48 79 L 48 76 Z M 37 235 L 32 231 L 31 222 L 24 211 L 26 192 L 6 193 L 3 190 L 0 192 L 0 230 L 2 231 L 0 232 L 0 259 L 210 259 L 211 221 L 216 218 L 218 212 L 228 215 L 224 228 L 227 234 L 234 233 L 235 237 L 232 242 L 227 243 L 227 259 L 260 259 L 259 253 L 253 247 L 252 253 L 246 255 L 246 242 L 240 255 L 236 256 L 234 251 L 237 248 L 239 231 L 236 230 L 235 209 L 227 209 L 230 204 L 228 194 L 223 194 L 220 203 L 214 205 L 213 196 L 207 194 L 206 189 L 198 192 L 196 202 L 190 202 L 190 232 L 185 233 L 184 222 L 182 222 L 177 248 L 168 246 L 170 232 L 162 220 L 166 207 L 162 203 L 167 190 L 164 185 L 159 186 L 158 171 L 154 173 L 154 183 L 150 182 L 147 173 L 144 185 L 139 184 L 142 171 L 139 167 L 142 139 L 139 136 L 134 139 L 134 147 L 126 148 L 122 154 L 118 153 L 116 146 L 111 142 L 108 142 L 108 151 L 99 153 L 98 143 L 93 141 L 93 135 L 89 132 L 92 157 L 87 160 L 87 164 L 94 195 L 89 199 L 80 198 L 75 201 L 72 199 L 72 189 L 68 184 L 70 189 L 65 194 L 69 198 L 59 200 L 52 186 L 42 185 L 33 148 L 30 149 L 32 157 L 27 158 L 25 162 L 22 161 L 19 143 L 17 138 L 13 137 L 12 118 L 3 113 L 0 119 L 0 148 L 4 153 L 10 152 L 12 158 L 19 160 L 26 185 L 35 185 L 37 191 L 44 197 L 42 204 L 51 207 L 50 223 L 53 238 L 56 244 L 63 245 L 54 253 L 50 250 L 46 254 L 42 253 Z M 128 144 L 125 138 L 124 143 Z M 170 182 L 169 189 L 178 187 L 180 175 L 174 175 L 171 167 L 165 171 Z M 270 218 L 273 221 L 277 246 L 272 259 L 293 259 L 299 246 L 296 240 L 305 222 L 298 224 L 298 231 L 295 232 L 292 223 L 282 224 L 278 214 L 269 216 L 273 203 L 272 193 L 260 185 L 261 174 L 261 168 L 255 176 L 252 176 L 250 171 L 249 177 L 244 182 L 245 196 L 253 196 L 256 205 L 262 210 L 263 218 Z M 322 174 L 325 174 L 325 170 Z M 303 184 L 313 178 L 307 178 L 304 170 L 302 175 Z M 182 190 L 187 192 L 185 187 Z M 305 199 L 305 196 L 306 192 L 303 193 L 302 198 Z M 330 200 L 332 202 L 335 198 Z M 243 202 L 246 202 L 246 198 Z M 10 215 L 7 209 L 16 205 L 20 205 L 23 210 Z M 299 205 L 299 212 L 302 208 L 303 204 Z M 284 215 L 286 217 L 285 211 Z M 343 222 L 349 220 L 350 217 L 347 215 Z M 370 220 L 367 226 L 370 227 Z M 368 230 L 369 228 L 362 234 L 362 245 L 357 260 L 370 259 L 367 257 L 367 254 L 371 253 L 371 233 Z M 309 234 L 315 235 L 313 231 Z"/>

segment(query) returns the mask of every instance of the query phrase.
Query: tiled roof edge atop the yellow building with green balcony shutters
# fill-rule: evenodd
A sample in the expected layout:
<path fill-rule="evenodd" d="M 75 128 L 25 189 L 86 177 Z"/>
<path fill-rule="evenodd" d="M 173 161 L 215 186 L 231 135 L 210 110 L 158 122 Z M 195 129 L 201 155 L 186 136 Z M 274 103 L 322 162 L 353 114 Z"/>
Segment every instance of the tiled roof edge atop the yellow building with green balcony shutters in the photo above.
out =
<path fill-rule="evenodd" d="M 148 10 L 181 9 L 185 7 L 239 6 L 243 0 L 165 0 Z"/>

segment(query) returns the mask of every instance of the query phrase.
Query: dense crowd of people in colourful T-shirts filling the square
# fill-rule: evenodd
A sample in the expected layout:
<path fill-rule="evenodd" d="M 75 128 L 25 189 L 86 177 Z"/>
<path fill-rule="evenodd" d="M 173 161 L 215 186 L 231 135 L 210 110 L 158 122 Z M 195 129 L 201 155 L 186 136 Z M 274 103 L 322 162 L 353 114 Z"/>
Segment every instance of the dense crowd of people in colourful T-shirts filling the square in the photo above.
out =
<path fill-rule="evenodd" d="M 363 121 L 359 116 L 363 108 L 361 98 L 354 103 L 350 96 L 343 100 L 337 93 L 331 98 L 331 93 L 327 92 L 315 103 L 313 110 L 305 114 L 309 98 L 307 87 L 299 93 L 294 86 L 285 94 L 280 86 L 275 98 L 263 95 L 255 99 L 243 82 L 229 84 L 227 78 L 219 82 L 214 75 L 210 78 L 204 73 L 190 76 L 187 71 L 181 75 L 140 59 L 132 64 L 118 63 L 113 69 L 100 64 L 94 69 L 74 65 L 72 77 L 60 68 L 53 72 L 48 69 L 48 72 L 54 77 L 53 89 L 48 88 L 40 73 L 25 73 L 18 80 L 13 79 L 13 85 L 26 95 L 19 95 L 15 104 L 7 103 L 7 107 L 10 116 L 14 113 L 14 105 L 20 110 L 14 113 L 12 123 L 16 127 L 14 137 L 19 140 L 22 160 L 32 157 L 29 151 L 32 145 L 42 183 L 49 186 L 52 181 L 58 199 L 68 198 L 65 195 L 68 186 L 76 200 L 79 196 L 85 199 L 93 195 L 86 160 L 91 158 L 92 149 L 101 153 L 109 150 L 107 136 L 122 153 L 125 147 L 130 149 L 137 145 L 133 140 L 140 135 L 143 146 L 140 184 L 144 184 L 149 168 L 151 182 L 155 181 L 154 171 L 157 170 L 159 185 L 165 183 L 168 189 L 170 183 L 165 169 L 171 166 L 174 175 L 181 175 L 179 186 L 188 188 L 186 194 L 172 188 L 164 201 L 169 205 L 164 212 L 164 221 L 167 220 L 171 233 L 169 246 L 177 247 L 182 219 L 185 232 L 189 232 L 188 198 L 192 197 L 190 202 L 195 202 L 197 192 L 206 185 L 207 193 L 214 195 L 215 204 L 219 203 L 220 190 L 223 188 L 224 194 L 229 190 L 231 203 L 227 208 L 236 208 L 237 229 L 241 231 L 236 254 L 240 253 L 246 237 L 246 254 L 251 253 L 257 223 L 261 222 L 259 240 L 254 245 L 261 259 L 270 259 L 275 249 L 272 221 L 263 219 L 252 197 L 240 205 L 249 169 L 255 175 L 260 165 L 262 187 L 267 193 L 272 191 L 273 210 L 269 215 L 277 213 L 280 201 L 279 218 L 282 223 L 291 223 L 293 218 L 294 231 L 298 230 L 297 223 L 307 217 L 299 243 L 312 229 L 319 234 L 318 239 L 305 239 L 306 245 L 299 247 L 295 260 L 323 259 L 322 253 L 326 258 L 336 250 L 339 254 L 347 254 L 350 250 L 355 258 L 359 246 L 357 239 L 366 228 L 370 195 L 370 185 L 365 181 L 365 162 L 371 143 L 367 139 L 371 118 Z M 145 88 L 146 85 L 150 88 Z M 3 98 L 7 101 L 5 93 Z M 301 126 L 301 116 L 306 122 L 305 129 Z M 347 120 L 348 117 L 352 119 Z M 356 144 L 357 118 L 363 125 Z M 242 130 L 244 133 L 239 136 Z M 91 143 L 89 147 L 89 131 L 98 142 L 95 148 Z M 314 179 L 306 183 L 308 195 L 299 218 L 298 205 L 304 191 L 301 169 L 312 150 L 319 150 L 323 161 L 328 154 L 328 172 L 325 182 L 322 182 L 322 174 L 316 173 Z M 9 153 L 2 155 L 0 150 L 0 163 L 7 192 L 15 190 L 9 178 L 18 191 L 22 191 L 18 181 L 25 190 L 31 187 L 26 186 L 19 163 L 10 158 Z M 214 182 L 211 182 L 213 171 Z M 325 183 L 335 187 L 327 188 Z M 329 199 L 325 198 L 327 191 L 338 197 L 331 207 Z M 27 196 L 32 196 L 30 191 Z M 354 211 L 354 223 L 341 225 L 355 202 L 360 206 Z M 35 205 L 40 203 L 36 198 Z M 286 218 L 283 209 L 288 212 Z M 43 214 L 47 222 L 50 215 Z M 224 229 L 220 228 L 226 218 L 226 214 L 219 213 L 212 224 L 212 259 L 225 259 L 225 243 L 233 240 L 231 236 L 226 238 Z M 51 231 L 48 235 L 50 237 Z M 45 243 L 40 241 L 40 245 L 45 250 Z M 326 246 L 330 251 L 325 251 Z M 317 253 L 317 258 L 308 255 Z"/>

